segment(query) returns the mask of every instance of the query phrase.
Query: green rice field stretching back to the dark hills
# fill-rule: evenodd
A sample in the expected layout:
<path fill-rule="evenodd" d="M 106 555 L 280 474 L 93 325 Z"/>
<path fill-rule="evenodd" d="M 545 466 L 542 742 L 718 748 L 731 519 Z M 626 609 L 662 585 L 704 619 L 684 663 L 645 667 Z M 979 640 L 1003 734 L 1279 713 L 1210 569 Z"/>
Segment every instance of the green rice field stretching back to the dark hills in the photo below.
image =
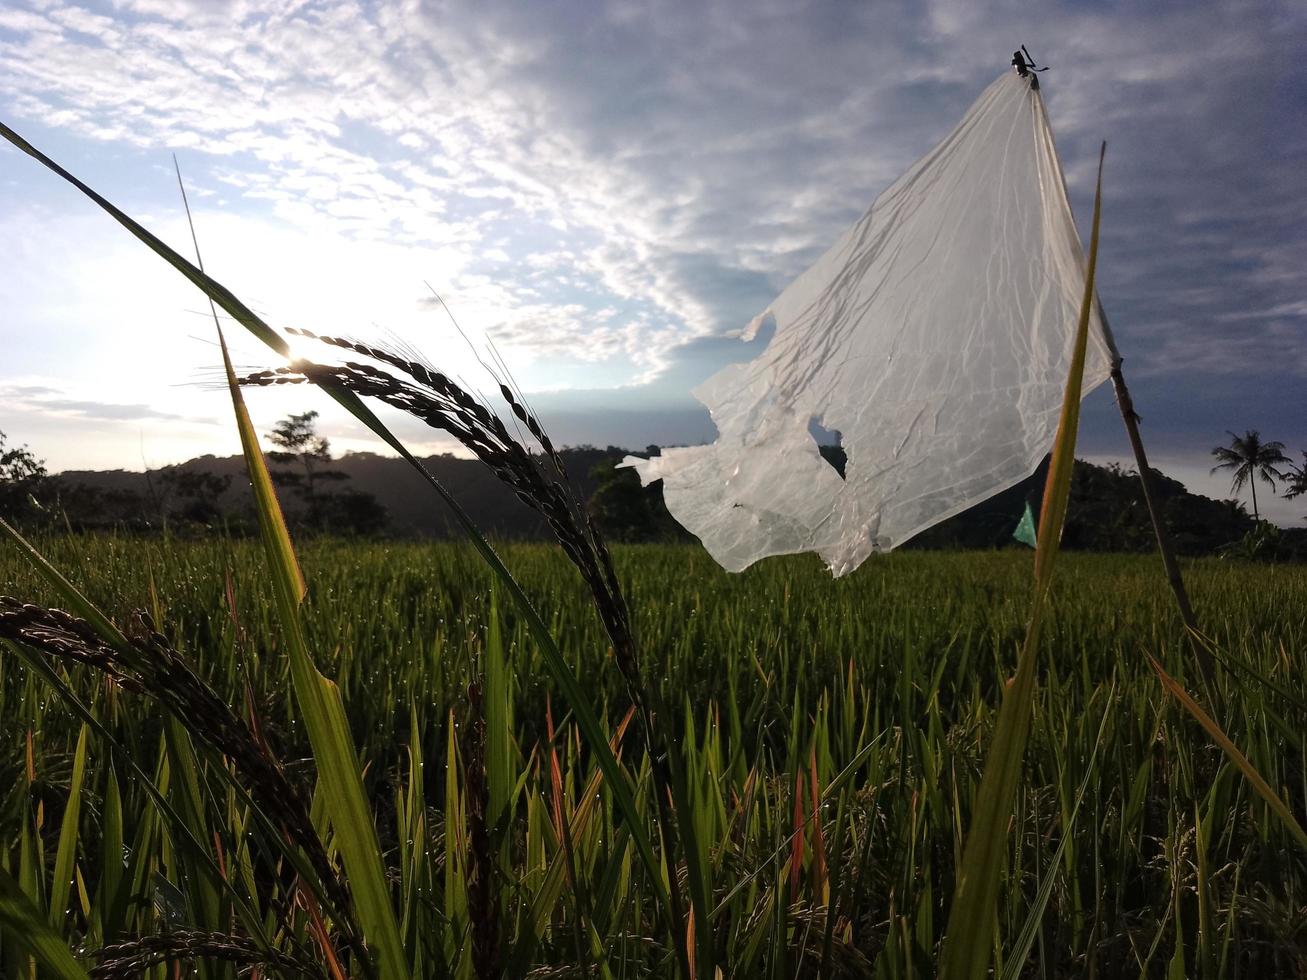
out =
<path fill-rule="evenodd" d="M 674 733 L 669 804 L 687 823 L 673 845 L 609 634 L 555 546 L 499 551 L 612 740 L 643 826 L 623 818 L 540 644 L 471 546 L 302 542 L 303 635 L 357 747 L 374 895 L 350 873 L 359 828 L 328 819 L 329 774 L 257 542 L 34 544 L 124 630 L 148 610 L 290 787 L 284 808 L 251 788 L 203 699 L 170 712 L 129 677 L 5 643 L 0 868 L 27 899 L 10 912 L 39 915 L 95 977 L 386 975 L 369 902 L 389 907 L 409 976 L 672 976 L 678 947 L 697 976 L 935 976 L 1031 614 L 1029 551 L 895 553 L 833 580 L 813 558 L 728 575 L 694 546 L 613 549 L 655 724 Z M 1307 567 L 1199 561 L 1185 574 L 1221 660 L 1210 693 L 1155 557 L 1060 559 L 993 976 L 1307 975 L 1307 852 L 1149 660 L 1302 822 Z M 64 605 L 8 544 L 0 592 Z M 324 864 L 288 844 L 297 793 Z M 669 928 L 673 892 L 707 907 L 694 919 L 707 936 Z M 59 975 L 30 955 L 12 930 L 0 938 L 5 977 Z"/>

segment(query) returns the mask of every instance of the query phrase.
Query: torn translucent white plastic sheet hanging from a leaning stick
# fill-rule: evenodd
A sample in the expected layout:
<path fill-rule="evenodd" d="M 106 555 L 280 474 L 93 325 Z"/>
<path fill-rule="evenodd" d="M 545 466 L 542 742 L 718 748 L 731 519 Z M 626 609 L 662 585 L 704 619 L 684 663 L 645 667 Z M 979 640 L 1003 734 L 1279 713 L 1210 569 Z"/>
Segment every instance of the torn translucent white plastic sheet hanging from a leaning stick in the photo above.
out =
<path fill-rule="evenodd" d="M 750 324 L 766 349 L 694 391 L 718 440 L 623 465 L 731 571 L 817 551 L 844 575 L 1034 472 L 1084 269 L 1039 91 L 1005 73 Z M 1095 308 L 1086 393 L 1114 353 Z"/>

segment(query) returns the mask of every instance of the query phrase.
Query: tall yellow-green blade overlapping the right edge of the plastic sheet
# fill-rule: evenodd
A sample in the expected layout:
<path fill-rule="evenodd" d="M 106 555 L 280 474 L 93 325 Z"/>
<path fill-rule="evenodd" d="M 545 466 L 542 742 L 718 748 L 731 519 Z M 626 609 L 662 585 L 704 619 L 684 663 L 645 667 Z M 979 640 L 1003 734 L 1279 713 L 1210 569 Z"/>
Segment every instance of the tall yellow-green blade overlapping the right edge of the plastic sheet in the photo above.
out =
<path fill-rule="evenodd" d="M 1103 146 L 1106 152 L 1106 144 Z M 1030 713 L 1035 691 L 1035 653 L 1043 621 L 1044 600 L 1052 583 L 1053 561 L 1061 541 L 1070 495 L 1070 474 L 1076 459 L 1076 430 L 1089 346 L 1089 320 L 1094 303 L 1094 270 L 1098 261 L 1098 227 L 1102 216 L 1103 157 L 1098 159 L 1098 186 L 1094 192 L 1094 226 L 1085 270 L 1085 294 L 1076 328 L 1074 351 L 1063 395 L 1061 418 L 1053 442 L 1044 503 L 1039 515 L 1039 541 L 1035 547 L 1035 595 L 1026 640 L 1017 662 L 1017 676 L 1008 687 L 993 740 L 985 757 L 984 774 L 976 792 L 971 828 L 967 834 L 948 932 L 940 976 L 944 980 L 980 980 L 993 955 L 995 904 L 1008 849 L 1008 825 L 1021 779 Z"/>

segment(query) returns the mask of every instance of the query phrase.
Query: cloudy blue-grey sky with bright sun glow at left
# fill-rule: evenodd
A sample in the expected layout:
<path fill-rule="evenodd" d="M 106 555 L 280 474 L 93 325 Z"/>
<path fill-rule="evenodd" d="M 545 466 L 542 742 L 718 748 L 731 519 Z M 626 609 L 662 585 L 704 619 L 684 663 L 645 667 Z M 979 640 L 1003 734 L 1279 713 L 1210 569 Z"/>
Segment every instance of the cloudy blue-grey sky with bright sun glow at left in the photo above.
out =
<path fill-rule="evenodd" d="M 1222 497 L 1225 430 L 1307 449 L 1303 10 L 4 0 L 0 118 L 188 251 L 175 153 L 209 272 L 274 325 L 473 384 L 493 340 L 557 442 L 642 447 L 712 438 L 689 389 L 749 355 L 732 335 L 1025 43 L 1077 214 L 1108 141 L 1099 289 L 1145 440 Z M 0 335 L 0 430 L 52 469 L 238 448 L 200 294 L 8 146 Z M 376 448 L 314 393 L 251 402 Z M 1128 455 L 1106 391 L 1081 455 Z"/>

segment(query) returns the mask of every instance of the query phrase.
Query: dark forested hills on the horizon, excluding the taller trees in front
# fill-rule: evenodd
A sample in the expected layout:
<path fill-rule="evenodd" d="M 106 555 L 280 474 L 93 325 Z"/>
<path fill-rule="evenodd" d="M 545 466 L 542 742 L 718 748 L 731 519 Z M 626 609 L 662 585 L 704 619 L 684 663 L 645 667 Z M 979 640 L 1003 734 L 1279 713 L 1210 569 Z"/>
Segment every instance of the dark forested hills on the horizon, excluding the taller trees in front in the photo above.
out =
<path fill-rule="evenodd" d="M 656 451 L 656 447 L 648 447 Z M 596 520 L 616 541 L 689 540 L 667 514 L 660 485 L 640 487 L 631 470 L 614 469 L 627 453 L 618 447 L 579 447 L 562 451 L 572 485 L 589 502 Z M 843 452 L 823 447 L 836 469 Z M 545 538 L 536 514 L 476 460 L 450 455 L 422 460 L 430 473 L 457 499 L 485 532 L 508 538 Z M 454 537 L 459 529 L 448 507 L 400 459 L 375 453 L 346 453 L 331 468 L 345 474 L 339 486 L 370 495 L 386 508 L 384 533 L 399 537 Z M 910 549 L 991 549 L 1013 546 L 1013 531 L 1029 503 L 1039 514 L 1047 463 L 1030 478 L 971 510 L 918 534 Z M 166 474 L 171 472 L 173 477 Z M 205 503 L 229 528 L 252 527 L 244 464 L 239 456 L 201 456 L 149 473 L 128 470 L 68 470 L 52 478 L 71 524 L 82 528 L 157 528 L 165 515 L 179 521 L 176 473 L 212 474 L 225 489 Z M 1213 500 L 1154 470 L 1159 506 L 1180 554 L 1213 554 L 1235 549 L 1255 531 L 1252 517 L 1234 500 Z M 229 482 L 227 482 L 229 480 Z M 195 482 L 195 481 L 192 481 Z M 282 493 L 294 519 L 295 498 Z M 218 523 L 213 520 L 212 523 Z M 1063 545 L 1076 550 L 1146 551 L 1153 529 L 1138 477 L 1117 468 L 1077 460 Z M 1277 557 L 1307 557 L 1307 529 L 1274 534 Z"/>

